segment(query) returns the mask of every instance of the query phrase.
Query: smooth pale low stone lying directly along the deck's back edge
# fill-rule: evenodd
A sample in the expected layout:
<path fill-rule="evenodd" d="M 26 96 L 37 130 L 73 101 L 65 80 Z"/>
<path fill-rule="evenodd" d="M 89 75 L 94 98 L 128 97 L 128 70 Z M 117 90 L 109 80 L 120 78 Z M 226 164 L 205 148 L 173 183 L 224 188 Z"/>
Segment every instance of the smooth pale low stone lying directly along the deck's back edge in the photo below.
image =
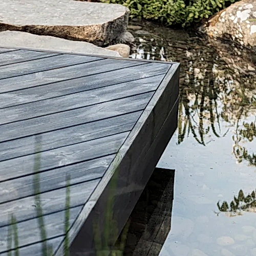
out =
<path fill-rule="evenodd" d="M 71 41 L 19 31 L 0 32 L 0 46 L 121 57 L 118 52 L 95 46 L 90 42 Z"/>

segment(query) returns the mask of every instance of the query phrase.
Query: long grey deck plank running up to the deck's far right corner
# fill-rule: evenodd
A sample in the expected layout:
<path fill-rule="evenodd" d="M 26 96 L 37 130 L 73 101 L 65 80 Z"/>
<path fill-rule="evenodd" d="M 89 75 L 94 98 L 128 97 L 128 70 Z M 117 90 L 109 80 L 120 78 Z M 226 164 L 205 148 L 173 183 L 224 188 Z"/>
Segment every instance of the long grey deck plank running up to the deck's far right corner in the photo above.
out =
<path fill-rule="evenodd" d="M 132 62 L 134 63 L 134 62 Z M 123 66 L 121 66 L 123 67 Z M 37 86 L 36 88 L 28 88 L 22 90 L 16 90 L 7 93 L 0 93 L 0 108 L 6 108 L 7 106 L 13 106 L 33 101 L 38 101 L 42 99 L 50 99 L 53 97 L 64 96 L 72 93 L 83 92 L 87 90 L 92 90 L 104 86 L 111 86 L 113 84 L 118 84 L 122 82 L 137 80 L 140 78 L 151 77 L 155 75 L 165 74 L 170 65 L 158 63 L 147 63 L 147 65 L 140 65 L 126 67 L 121 69 L 116 69 L 96 75 L 90 75 L 86 77 L 74 78 L 72 80 L 64 80 L 54 82 L 53 84 L 43 84 L 42 86 Z M 120 66 L 119 66 L 120 68 Z M 113 69 L 113 67 L 112 67 Z M 111 67 L 110 67 L 111 70 Z M 24 76 L 20 77 L 23 78 Z M 6 79 L 8 80 L 8 79 Z M 21 79 L 23 80 L 23 79 Z M 0 84 L 2 82 L 3 87 L 6 90 L 10 89 L 14 84 L 19 83 L 22 84 L 22 81 L 16 80 L 14 84 L 3 84 L 3 81 L 0 80 Z M 43 80 L 30 80 L 29 83 L 37 84 L 37 82 L 43 82 Z M 49 81 L 50 82 L 50 81 Z M 18 86 L 19 88 L 19 86 Z"/>

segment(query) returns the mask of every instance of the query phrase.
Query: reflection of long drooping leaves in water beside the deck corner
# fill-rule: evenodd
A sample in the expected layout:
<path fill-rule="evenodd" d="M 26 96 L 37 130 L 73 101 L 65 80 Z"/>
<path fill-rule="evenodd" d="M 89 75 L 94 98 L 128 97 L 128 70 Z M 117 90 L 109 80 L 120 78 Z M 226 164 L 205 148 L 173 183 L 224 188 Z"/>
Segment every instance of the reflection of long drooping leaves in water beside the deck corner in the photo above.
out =
<path fill-rule="evenodd" d="M 180 89 L 179 106 L 179 138 L 180 144 L 190 131 L 198 143 L 205 145 L 205 135 L 210 130 L 216 137 L 221 137 L 220 132 L 220 110 L 218 110 L 218 87 L 215 86 L 214 78 L 209 76 L 206 81 L 199 83 L 190 78 L 186 87 Z M 218 124 L 218 132 L 215 123 Z M 197 135 L 198 131 L 198 135 Z M 225 132 L 222 136 L 225 136 Z"/>

